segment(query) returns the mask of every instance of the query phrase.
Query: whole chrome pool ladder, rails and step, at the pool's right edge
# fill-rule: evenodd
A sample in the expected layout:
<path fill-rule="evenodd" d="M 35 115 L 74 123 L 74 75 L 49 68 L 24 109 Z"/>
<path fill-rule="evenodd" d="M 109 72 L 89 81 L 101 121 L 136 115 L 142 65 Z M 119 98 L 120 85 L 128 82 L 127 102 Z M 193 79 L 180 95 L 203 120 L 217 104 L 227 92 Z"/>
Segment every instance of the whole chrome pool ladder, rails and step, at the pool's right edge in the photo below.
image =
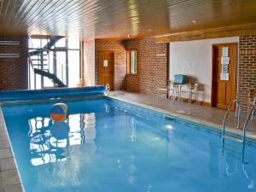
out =
<path fill-rule="evenodd" d="M 247 119 L 245 120 L 245 123 L 243 124 L 242 129 L 241 129 L 242 137 L 236 137 L 236 136 L 233 136 L 231 134 L 226 134 L 226 127 L 225 127 L 226 119 L 228 118 L 228 116 L 230 114 L 230 110 L 231 110 L 231 107 L 233 106 L 233 104 L 236 104 L 236 117 L 237 117 L 236 128 L 237 129 L 240 128 L 241 102 L 239 100 L 235 99 L 232 102 L 230 102 L 230 106 L 227 109 L 227 112 L 225 113 L 225 116 L 224 116 L 224 119 L 223 119 L 223 123 L 222 123 L 222 144 L 223 144 L 223 149 L 224 149 L 225 139 L 229 139 L 229 140 L 231 140 L 233 142 L 236 142 L 236 143 L 241 143 L 242 144 L 242 159 L 243 159 L 245 142 L 246 142 L 246 127 L 247 127 L 248 119 L 250 119 L 251 115 L 253 114 L 253 109 L 255 108 L 255 106 L 250 106 L 249 107 L 249 113 L 247 113 Z"/>

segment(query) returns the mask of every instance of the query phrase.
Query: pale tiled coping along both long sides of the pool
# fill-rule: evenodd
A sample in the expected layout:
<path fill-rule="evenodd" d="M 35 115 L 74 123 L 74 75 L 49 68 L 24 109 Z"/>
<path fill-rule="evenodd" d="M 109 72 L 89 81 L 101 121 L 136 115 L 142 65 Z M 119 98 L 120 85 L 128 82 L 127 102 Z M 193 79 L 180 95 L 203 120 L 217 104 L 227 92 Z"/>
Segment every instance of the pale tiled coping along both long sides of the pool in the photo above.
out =
<path fill-rule="evenodd" d="M 156 112 L 163 113 L 166 116 L 186 119 L 195 124 L 209 126 L 217 130 L 221 129 L 221 126 L 218 124 L 207 122 L 201 119 L 195 119 L 180 113 L 173 113 L 171 111 L 161 109 L 161 108 L 155 108 L 148 104 L 143 104 L 140 102 L 127 101 L 117 96 L 108 96 L 108 97 L 112 99 L 116 99 L 121 102 L 131 103 L 133 105 L 137 105 L 142 108 L 148 108 Z M 241 135 L 241 131 L 236 129 L 231 129 L 230 127 L 227 127 L 227 131 L 230 131 L 231 133 L 236 134 L 238 136 Z M 247 138 L 256 140 L 256 134 L 250 131 L 247 131 Z M 20 174 L 18 172 L 18 168 L 15 162 L 15 156 L 9 141 L 9 136 L 8 136 L 7 128 L 5 125 L 5 121 L 3 119 L 3 111 L 2 111 L 2 108 L 0 107 L 0 192 L 24 192 L 24 191 L 25 190 L 21 183 Z"/>

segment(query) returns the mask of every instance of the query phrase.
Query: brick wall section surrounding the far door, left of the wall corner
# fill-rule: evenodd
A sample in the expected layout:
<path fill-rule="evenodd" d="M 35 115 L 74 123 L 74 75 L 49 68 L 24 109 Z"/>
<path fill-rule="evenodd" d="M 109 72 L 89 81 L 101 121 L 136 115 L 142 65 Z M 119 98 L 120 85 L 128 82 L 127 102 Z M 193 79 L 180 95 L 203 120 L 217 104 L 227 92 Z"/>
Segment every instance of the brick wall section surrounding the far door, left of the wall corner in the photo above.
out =
<path fill-rule="evenodd" d="M 95 40 L 96 69 L 95 79 L 98 84 L 98 51 L 110 50 L 114 54 L 114 90 L 125 90 L 126 75 L 126 49 L 125 42 L 121 40 Z"/>

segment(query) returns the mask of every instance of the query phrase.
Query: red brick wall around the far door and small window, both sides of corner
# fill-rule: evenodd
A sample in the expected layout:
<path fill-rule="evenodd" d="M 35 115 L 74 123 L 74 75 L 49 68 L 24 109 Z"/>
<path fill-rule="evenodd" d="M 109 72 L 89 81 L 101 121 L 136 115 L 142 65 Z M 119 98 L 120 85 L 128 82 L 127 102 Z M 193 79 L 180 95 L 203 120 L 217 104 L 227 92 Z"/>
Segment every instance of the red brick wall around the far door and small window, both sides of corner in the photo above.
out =
<path fill-rule="evenodd" d="M 115 90 L 154 94 L 157 84 L 166 84 L 168 44 L 155 44 L 154 38 L 96 40 L 96 84 L 99 50 L 114 52 Z M 126 74 L 126 50 L 137 50 L 137 74 Z"/>

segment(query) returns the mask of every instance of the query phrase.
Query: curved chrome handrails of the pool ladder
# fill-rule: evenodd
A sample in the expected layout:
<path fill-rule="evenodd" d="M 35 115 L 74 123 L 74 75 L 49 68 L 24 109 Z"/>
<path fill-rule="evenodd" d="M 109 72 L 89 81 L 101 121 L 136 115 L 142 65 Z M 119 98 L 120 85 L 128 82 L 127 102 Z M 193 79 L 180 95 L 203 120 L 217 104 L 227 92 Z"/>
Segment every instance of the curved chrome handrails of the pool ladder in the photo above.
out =
<path fill-rule="evenodd" d="M 238 114 L 236 128 L 239 129 L 239 127 L 240 127 L 241 102 L 238 99 L 235 99 L 232 102 L 230 102 L 230 106 L 229 106 L 229 108 L 228 108 L 228 110 L 227 110 L 227 112 L 224 116 L 223 125 L 222 125 L 223 126 L 222 141 L 223 141 L 223 144 L 224 144 L 224 139 L 228 138 L 232 141 L 242 143 L 243 151 L 244 151 L 245 141 L 246 141 L 246 127 L 247 127 L 248 120 L 250 119 L 251 115 L 253 114 L 253 109 L 255 108 L 255 106 L 253 105 L 252 107 L 251 106 L 249 107 L 249 113 L 247 114 L 247 119 L 246 119 L 244 125 L 242 126 L 242 131 L 243 131 L 242 139 L 238 139 L 236 137 L 226 136 L 226 134 L 225 134 L 226 133 L 225 132 L 225 121 L 228 118 L 229 113 L 230 113 L 230 109 L 231 109 L 231 107 L 234 103 L 236 103 L 236 116 Z M 237 109 L 238 109 L 238 112 L 237 112 Z"/>

